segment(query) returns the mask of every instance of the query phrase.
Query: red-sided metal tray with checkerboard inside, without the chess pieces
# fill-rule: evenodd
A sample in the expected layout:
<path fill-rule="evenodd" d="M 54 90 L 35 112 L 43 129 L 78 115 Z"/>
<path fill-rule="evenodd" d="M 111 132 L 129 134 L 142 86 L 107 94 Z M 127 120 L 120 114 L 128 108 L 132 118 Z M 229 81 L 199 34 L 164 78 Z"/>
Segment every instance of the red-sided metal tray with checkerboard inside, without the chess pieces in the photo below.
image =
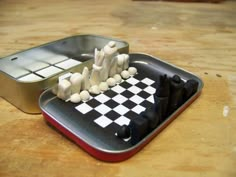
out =
<path fill-rule="evenodd" d="M 191 104 L 202 89 L 203 84 L 198 77 L 152 56 L 130 54 L 130 61 L 130 66 L 138 70 L 136 75 L 101 94 L 91 95 L 86 102 L 65 102 L 51 90 L 40 96 L 40 108 L 45 119 L 89 154 L 101 160 L 122 161 L 134 155 Z M 178 74 L 184 80 L 196 79 L 199 83 L 197 93 L 139 143 L 133 145 L 130 139 L 118 137 L 117 131 L 122 125 L 140 118 L 138 115 L 142 111 L 153 106 L 155 82 L 163 73 L 169 77 Z"/>

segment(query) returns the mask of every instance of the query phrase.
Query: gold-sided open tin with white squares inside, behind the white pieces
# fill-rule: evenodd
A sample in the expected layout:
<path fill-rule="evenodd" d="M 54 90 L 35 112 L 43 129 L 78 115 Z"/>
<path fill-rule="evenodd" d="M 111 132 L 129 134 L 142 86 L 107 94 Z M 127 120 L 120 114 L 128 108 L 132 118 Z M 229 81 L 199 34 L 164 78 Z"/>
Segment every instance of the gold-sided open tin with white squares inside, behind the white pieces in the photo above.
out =
<path fill-rule="evenodd" d="M 94 48 L 115 41 L 128 53 L 125 41 L 97 35 L 77 35 L 50 42 L 0 59 L 0 96 L 26 113 L 40 113 L 40 94 L 66 72 L 92 65 Z"/>

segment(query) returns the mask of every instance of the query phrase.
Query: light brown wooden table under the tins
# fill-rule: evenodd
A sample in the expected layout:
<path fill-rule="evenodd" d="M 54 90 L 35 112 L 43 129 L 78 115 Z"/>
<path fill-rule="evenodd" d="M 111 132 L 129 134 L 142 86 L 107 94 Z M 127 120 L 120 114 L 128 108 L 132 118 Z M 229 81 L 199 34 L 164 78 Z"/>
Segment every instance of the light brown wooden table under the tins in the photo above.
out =
<path fill-rule="evenodd" d="M 126 40 L 131 52 L 162 58 L 205 84 L 188 109 L 121 163 L 94 159 L 42 115 L 25 114 L 0 98 L 0 176 L 235 177 L 235 9 L 234 1 L 0 1 L 0 57 L 90 33 Z"/>

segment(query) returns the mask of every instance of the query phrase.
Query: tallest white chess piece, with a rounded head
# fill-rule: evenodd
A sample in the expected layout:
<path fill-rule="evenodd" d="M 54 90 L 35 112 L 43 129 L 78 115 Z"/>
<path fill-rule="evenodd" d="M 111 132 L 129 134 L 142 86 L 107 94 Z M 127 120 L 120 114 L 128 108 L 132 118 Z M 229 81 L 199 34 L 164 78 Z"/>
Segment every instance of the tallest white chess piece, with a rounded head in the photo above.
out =
<path fill-rule="evenodd" d="M 116 43 L 114 41 L 110 41 L 103 48 L 103 51 L 105 54 L 105 58 L 102 64 L 101 79 L 102 81 L 106 81 L 109 76 L 112 59 L 118 54 Z"/>

